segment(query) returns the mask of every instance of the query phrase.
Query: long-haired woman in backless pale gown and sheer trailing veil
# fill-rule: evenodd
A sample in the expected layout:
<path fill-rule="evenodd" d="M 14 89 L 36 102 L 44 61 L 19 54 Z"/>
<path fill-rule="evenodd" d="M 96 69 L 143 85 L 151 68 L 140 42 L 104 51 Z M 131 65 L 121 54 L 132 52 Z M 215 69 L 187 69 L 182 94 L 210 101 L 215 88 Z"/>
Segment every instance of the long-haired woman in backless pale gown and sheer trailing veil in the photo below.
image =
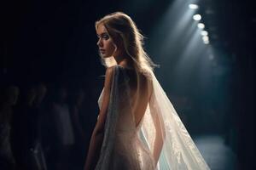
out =
<path fill-rule="evenodd" d="M 107 71 L 84 170 L 209 169 L 154 77 L 131 18 L 108 14 L 96 33 Z"/>

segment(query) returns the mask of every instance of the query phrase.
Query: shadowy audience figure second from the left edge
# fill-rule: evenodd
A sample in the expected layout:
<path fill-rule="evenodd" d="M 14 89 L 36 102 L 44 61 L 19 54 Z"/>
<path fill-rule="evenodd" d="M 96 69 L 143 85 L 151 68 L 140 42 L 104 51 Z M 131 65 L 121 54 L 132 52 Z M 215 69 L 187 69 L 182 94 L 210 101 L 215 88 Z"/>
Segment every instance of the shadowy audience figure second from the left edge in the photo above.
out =
<path fill-rule="evenodd" d="M 19 170 L 29 170 L 33 167 L 34 140 L 37 138 L 38 131 L 37 127 L 33 127 L 37 124 L 33 107 L 35 98 L 35 88 L 20 90 L 20 99 L 13 116 L 11 141 L 16 169 Z"/>

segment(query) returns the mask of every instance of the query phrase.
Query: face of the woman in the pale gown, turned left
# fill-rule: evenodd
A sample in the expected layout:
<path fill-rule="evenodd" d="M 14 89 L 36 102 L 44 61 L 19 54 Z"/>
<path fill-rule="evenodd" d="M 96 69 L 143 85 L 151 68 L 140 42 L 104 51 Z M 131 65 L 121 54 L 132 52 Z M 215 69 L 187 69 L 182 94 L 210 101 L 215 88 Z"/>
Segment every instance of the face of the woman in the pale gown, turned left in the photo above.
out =
<path fill-rule="evenodd" d="M 97 27 L 96 33 L 99 38 L 97 46 L 99 47 L 99 52 L 102 57 L 107 58 L 114 55 L 116 52 L 116 46 L 114 45 L 112 38 L 109 37 L 108 31 L 103 24 L 100 24 Z"/>

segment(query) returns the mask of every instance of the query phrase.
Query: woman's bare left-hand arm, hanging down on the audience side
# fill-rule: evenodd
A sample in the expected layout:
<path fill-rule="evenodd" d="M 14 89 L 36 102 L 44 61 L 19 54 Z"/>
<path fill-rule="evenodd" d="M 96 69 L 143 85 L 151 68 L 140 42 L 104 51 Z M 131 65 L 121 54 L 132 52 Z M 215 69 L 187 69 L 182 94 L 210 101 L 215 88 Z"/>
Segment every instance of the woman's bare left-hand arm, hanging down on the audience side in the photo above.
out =
<path fill-rule="evenodd" d="M 102 141 L 104 137 L 104 124 L 108 112 L 108 103 L 111 92 L 111 84 L 113 79 L 113 67 L 109 67 L 106 71 L 106 77 L 104 82 L 104 94 L 102 99 L 102 107 L 100 109 L 100 114 L 98 116 L 96 127 L 93 130 L 90 139 L 90 145 L 88 154 L 86 157 L 84 170 L 94 169 L 96 167 L 96 162 L 99 159 L 100 151 L 102 147 Z"/>

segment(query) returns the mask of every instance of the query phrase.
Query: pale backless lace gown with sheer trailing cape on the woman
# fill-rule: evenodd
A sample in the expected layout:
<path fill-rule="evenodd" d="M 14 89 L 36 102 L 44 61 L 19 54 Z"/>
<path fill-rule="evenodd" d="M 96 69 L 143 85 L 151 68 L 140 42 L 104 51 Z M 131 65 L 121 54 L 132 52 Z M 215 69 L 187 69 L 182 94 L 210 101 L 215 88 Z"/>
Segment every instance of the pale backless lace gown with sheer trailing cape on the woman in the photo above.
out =
<path fill-rule="evenodd" d="M 149 74 L 152 94 L 143 119 L 136 127 L 131 109 L 129 70 L 119 65 L 113 67 L 104 139 L 96 169 L 210 169 L 154 73 Z M 103 94 L 104 88 L 98 100 L 99 107 Z"/>

